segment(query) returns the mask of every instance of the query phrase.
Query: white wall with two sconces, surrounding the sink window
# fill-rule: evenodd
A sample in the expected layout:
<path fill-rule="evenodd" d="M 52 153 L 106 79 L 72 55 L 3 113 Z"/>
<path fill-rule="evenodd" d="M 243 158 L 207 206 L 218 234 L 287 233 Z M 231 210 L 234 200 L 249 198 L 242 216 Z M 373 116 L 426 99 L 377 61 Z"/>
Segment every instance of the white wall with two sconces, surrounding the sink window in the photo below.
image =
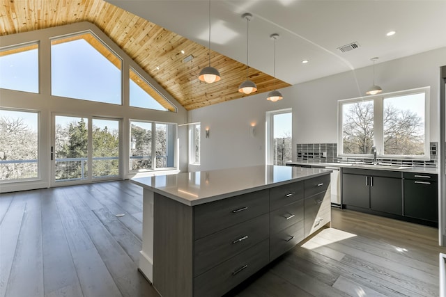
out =
<path fill-rule="evenodd" d="M 446 47 L 375 65 L 376 84 L 384 93 L 431 87 L 430 141 L 438 141 L 440 66 L 446 65 Z M 224 79 L 224 77 L 222 77 Z M 190 171 L 265 163 L 266 111 L 293 109 L 293 160 L 296 143 L 337 142 L 337 101 L 361 97 L 373 83 L 372 66 L 284 88 L 284 99 L 252 95 L 189 112 L 189 122 L 201 122 L 201 165 Z M 236 91 L 236 90 L 234 90 Z M 250 123 L 256 136 L 249 137 Z M 204 130 L 210 128 L 210 138 Z"/>

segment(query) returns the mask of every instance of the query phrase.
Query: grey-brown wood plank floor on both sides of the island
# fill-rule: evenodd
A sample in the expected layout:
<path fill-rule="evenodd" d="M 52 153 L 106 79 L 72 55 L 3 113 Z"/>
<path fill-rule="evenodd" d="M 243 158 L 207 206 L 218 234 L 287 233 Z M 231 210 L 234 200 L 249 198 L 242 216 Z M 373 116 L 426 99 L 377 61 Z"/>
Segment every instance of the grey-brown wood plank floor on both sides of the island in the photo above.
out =
<path fill-rule="evenodd" d="M 141 220 L 142 189 L 128 181 L 1 194 L 0 297 L 158 296 L 137 271 Z M 332 228 L 227 295 L 438 296 L 437 237 L 333 209 Z"/>

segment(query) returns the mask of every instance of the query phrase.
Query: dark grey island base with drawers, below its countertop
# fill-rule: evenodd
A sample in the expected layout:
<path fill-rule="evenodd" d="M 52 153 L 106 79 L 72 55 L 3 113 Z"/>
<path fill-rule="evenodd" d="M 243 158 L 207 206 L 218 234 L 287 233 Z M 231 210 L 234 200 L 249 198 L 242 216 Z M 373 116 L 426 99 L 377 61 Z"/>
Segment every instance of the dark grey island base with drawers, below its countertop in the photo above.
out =
<path fill-rule="evenodd" d="M 153 286 L 164 297 L 226 294 L 330 223 L 329 185 L 327 173 L 194 207 L 155 193 Z"/>

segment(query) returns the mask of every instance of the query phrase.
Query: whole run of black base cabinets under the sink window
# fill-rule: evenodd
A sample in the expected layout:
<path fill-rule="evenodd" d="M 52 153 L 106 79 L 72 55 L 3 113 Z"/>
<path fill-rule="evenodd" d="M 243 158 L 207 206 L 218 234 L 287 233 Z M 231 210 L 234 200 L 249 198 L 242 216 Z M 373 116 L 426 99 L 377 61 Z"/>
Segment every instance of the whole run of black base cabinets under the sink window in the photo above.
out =
<path fill-rule="evenodd" d="M 347 209 L 435 225 L 437 179 L 436 174 L 344 168 L 342 203 Z"/>

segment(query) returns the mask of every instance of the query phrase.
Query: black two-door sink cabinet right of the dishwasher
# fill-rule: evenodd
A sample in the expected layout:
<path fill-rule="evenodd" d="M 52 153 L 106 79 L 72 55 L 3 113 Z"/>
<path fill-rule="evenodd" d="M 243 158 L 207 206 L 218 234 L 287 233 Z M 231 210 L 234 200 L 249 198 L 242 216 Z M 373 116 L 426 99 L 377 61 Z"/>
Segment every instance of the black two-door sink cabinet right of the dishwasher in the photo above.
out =
<path fill-rule="evenodd" d="M 401 172 L 344 168 L 342 201 L 358 207 L 401 216 L 403 191 Z"/>

